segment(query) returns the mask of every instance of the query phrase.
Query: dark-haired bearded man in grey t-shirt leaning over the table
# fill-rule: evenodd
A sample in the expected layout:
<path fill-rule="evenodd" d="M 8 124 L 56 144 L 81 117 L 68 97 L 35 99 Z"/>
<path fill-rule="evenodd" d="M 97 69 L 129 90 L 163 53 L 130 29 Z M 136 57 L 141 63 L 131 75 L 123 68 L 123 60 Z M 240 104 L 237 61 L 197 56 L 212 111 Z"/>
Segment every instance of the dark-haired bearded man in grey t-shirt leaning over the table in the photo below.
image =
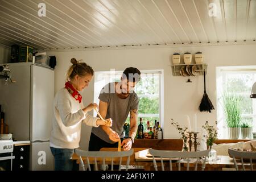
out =
<path fill-rule="evenodd" d="M 141 79 L 137 68 L 123 71 L 120 82 L 110 82 L 101 90 L 99 112 L 102 117 L 112 118 L 112 127 L 93 127 L 90 135 L 89 151 L 100 151 L 102 147 L 118 147 L 121 139 L 123 150 L 130 150 L 137 133 L 139 98 L 133 89 Z M 129 138 L 123 139 L 123 125 L 130 113 Z"/>

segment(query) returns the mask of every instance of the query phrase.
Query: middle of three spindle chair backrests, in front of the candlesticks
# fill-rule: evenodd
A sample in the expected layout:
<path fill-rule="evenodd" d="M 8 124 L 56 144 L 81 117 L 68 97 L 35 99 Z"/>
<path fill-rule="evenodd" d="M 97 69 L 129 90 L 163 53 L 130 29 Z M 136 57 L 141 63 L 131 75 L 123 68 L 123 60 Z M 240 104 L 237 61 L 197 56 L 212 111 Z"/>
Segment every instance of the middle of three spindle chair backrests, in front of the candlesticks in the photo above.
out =
<path fill-rule="evenodd" d="M 185 162 L 187 162 L 187 171 L 189 171 L 189 162 L 191 162 L 190 159 L 196 158 L 196 163 L 195 163 L 195 171 L 197 171 L 197 164 L 201 162 L 200 160 L 203 160 L 203 164 L 201 166 L 202 171 L 204 171 L 205 168 L 205 158 L 208 156 L 210 150 L 204 150 L 204 151 L 198 151 L 198 152 L 182 152 L 182 151 L 167 151 L 167 150 L 154 150 L 151 149 L 149 150 L 150 154 L 153 157 L 153 163 L 154 163 L 154 168 L 156 171 L 158 171 L 158 166 L 156 163 L 155 158 L 160 158 L 161 162 L 161 167 L 162 171 L 164 171 L 164 163 L 163 159 L 165 158 L 168 159 L 168 162 L 170 163 L 170 171 L 172 171 L 172 160 L 177 160 L 178 163 L 178 170 L 180 171 L 180 163 L 181 159 L 184 159 Z"/>

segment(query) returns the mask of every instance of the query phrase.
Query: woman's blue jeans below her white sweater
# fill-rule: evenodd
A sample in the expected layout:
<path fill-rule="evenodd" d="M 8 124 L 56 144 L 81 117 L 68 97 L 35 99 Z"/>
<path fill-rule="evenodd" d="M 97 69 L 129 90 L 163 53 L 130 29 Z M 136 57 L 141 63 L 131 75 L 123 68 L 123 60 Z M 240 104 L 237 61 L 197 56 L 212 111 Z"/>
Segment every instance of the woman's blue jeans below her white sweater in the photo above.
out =
<path fill-rule="evenodd" d="M 55 171 L 72 171 L 74 149 L 50 147 L 54 156 Z"/>

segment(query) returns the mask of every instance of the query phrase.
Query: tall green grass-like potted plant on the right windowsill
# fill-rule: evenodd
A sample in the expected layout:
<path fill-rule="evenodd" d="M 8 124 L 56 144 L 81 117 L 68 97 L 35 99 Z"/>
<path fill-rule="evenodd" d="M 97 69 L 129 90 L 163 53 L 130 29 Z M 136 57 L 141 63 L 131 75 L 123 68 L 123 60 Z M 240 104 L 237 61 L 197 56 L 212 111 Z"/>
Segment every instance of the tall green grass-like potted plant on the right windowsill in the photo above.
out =
<path fill-rule="evenodd" d="M 226 126 L 230 139 L 238 139 L 240 136 L 242 97 L 234 93 L 225 93 L 223 97 L 223 107 Z"/>

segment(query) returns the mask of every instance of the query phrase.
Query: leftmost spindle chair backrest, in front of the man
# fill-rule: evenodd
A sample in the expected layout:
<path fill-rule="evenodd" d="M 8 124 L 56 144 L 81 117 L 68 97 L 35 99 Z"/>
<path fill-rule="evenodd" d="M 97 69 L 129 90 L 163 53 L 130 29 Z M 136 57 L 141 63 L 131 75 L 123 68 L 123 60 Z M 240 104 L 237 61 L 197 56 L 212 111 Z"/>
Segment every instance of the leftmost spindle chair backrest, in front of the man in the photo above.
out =
<path fill-rule="evenodd" d="M 106 158 L 111 159 L 111 171 L 114 170 L 114 158 L 119 158 L 119 168 L 118 170 L 121 171 L 121 165 L 122 165 L 122 158 L 127 157 L 126 161 L 126 171 L 128 170 L 128 166 L 130 164 L 130 156 L 133 155 L 133 149 L 129 151 L 120 151 L 120 152 L 115 152 L 115 151 L 85 151 L 85 150 L 75 150 L 76 154 L 79 156 L 80 163 L 82 166 L 82 169 L 85 171 L 84 167 L 84 161 L 82 160 L 82 157 L 86 158 L 86 163 L 88 164 L 88 169 L 90 169 L 90 159 L 94 158 L 94 169 L 98 171 L 98 159 L 103 159 L 102 164 L 105 166 Z M 103 169 L 105 171 L 105 168 Z"/>

